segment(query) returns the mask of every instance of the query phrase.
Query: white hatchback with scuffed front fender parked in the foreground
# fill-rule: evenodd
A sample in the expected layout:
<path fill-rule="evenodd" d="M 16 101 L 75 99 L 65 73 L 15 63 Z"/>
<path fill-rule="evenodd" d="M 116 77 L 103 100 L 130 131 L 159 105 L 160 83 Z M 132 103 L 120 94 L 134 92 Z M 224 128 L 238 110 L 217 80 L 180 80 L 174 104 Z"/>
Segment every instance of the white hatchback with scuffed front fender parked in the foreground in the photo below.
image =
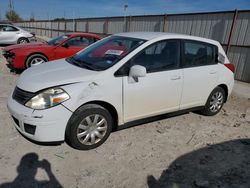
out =
<path fill-rule="evenodd" d="M 186 110 L 215 115 L 233 84 L 234 66 L 217 41 L 121 33 L 23 72 L 8 109 L 25 137 L 87 150 L 121 125 Z"/>

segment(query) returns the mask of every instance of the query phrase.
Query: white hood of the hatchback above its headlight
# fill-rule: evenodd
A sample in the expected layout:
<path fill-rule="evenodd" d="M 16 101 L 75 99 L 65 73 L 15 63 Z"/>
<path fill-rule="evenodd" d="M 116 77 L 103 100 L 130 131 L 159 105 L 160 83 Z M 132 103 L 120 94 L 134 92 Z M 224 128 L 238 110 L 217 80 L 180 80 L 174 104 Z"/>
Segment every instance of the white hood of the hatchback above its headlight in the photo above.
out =
<path fill-rule="evenodd" d="M 91 80 L 98 72 L 77 67 L 65 59 L 36 65 L 25 70 L 19 77 L 17 87 L 29 92 Z"/>

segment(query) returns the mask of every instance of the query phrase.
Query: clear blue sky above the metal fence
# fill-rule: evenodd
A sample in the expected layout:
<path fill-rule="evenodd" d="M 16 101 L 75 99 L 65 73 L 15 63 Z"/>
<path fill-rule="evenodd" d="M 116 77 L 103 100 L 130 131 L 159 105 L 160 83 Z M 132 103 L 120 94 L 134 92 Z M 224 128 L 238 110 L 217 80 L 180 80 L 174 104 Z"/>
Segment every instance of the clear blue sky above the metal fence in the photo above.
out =
<path fill-rule="evenodd" d="M 106 16 L 172 14 L 224 10 L 250 10 L 250 0 L 12 0 L 23 18 L 87 18 Z M 9 0 L 0 0 L 4 19 Z M 124 5 L 128 8 L 124 11 Z"/>

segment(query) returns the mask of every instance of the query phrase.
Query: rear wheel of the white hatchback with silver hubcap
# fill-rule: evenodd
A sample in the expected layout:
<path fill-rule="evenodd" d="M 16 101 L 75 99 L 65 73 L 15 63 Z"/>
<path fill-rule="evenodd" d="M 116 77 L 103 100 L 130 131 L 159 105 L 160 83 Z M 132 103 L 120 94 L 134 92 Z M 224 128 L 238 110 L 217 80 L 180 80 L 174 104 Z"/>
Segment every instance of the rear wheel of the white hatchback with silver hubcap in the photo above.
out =
<path fill-rule="evenodd" d="M 224 89 L 216 87 L 209 95 L 206 105 L 201 113 L 207 116 L 213 116 L 220 112 L 226 99 Z"/>

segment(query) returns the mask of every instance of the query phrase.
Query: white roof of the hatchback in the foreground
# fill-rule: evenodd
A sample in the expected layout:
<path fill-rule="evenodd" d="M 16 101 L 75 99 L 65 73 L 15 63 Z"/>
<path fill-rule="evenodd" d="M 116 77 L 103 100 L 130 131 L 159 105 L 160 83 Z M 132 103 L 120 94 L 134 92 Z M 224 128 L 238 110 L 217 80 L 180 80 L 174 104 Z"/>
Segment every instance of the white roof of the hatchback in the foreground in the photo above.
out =
<path fill-rule="evenodd" d="M 153 39 L 171 39 L 171 38 L 179 38 L 179 39 L 189 39 L 189 40 L 198 40 L 202 42 L 208 42 L 211 44 L 218 45 L 218 41 L 196 37 L 192 35 L 184 35 L 177 33 L 165 33 L 165 32 L 127 32 L 127 33 L 118 33 L 115 36 L 123 36 L 123 37 L 131 37 L 131 38 L 139 38 L 143 40 L 153 40 Z"/>

